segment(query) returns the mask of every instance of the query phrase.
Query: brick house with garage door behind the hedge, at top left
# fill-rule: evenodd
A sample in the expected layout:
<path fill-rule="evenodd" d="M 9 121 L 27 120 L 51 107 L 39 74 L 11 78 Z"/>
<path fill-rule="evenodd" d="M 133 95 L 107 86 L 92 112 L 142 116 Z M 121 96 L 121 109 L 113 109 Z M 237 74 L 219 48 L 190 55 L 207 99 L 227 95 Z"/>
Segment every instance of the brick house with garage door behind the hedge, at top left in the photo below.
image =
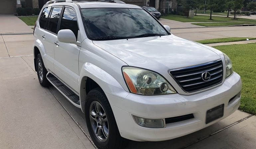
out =
<path fill-rule="evenodd" d="M 18 7 L 38 8 L 38 0 L 0 0 L 0 14 L 15 14 Z"/>

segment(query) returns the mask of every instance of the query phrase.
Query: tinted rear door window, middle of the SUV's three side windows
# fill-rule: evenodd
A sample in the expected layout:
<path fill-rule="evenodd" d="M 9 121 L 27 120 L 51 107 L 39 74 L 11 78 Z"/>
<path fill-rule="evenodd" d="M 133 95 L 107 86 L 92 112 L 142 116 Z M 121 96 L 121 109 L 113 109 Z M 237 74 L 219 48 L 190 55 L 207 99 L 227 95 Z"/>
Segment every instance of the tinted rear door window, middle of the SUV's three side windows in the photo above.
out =
<path fill-rule="evenodd" d="M 61 16 L 62 7 L 54 7 L 49 18 L 48 30 L 57 34 L 57 26 Z"/>

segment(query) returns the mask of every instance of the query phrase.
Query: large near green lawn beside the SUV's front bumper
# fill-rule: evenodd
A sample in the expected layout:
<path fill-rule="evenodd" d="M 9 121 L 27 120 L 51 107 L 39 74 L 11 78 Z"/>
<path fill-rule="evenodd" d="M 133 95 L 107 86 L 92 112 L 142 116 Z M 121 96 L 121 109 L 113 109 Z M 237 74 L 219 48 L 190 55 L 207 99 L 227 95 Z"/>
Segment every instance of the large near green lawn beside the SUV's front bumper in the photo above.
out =
<path fill-rule="evenodd" d="M 242 79 L 240 110 L 256 115 L 256 43 L 215 46 L 229 56 Z"/>

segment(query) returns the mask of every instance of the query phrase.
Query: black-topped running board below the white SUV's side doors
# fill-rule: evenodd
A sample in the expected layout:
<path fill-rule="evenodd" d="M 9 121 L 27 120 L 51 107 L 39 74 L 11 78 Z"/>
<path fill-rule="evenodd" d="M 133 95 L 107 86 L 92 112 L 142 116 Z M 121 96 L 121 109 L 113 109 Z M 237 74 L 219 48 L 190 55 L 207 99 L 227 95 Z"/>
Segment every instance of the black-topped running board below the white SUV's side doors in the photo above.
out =
<path fill-rule="evenodd" d="M 67 99 L 71 100 L 75 106 L 80 105 L 79 96 L 62 83 L 57 77 L 48 73 L 47 79 L 57 88 Z"/>

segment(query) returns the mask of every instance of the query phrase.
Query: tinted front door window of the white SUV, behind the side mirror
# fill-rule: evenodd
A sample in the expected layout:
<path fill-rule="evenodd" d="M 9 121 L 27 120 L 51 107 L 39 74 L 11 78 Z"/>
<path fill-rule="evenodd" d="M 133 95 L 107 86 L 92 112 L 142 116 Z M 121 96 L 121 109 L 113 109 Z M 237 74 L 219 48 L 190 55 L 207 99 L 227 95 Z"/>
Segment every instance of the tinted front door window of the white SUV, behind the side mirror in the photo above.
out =
<path fill-rule="evenodd" d="M 78 25 L 77 25 L 77 18 L 75 15 L 75 12 L 71 8 L 65 8 L 62 21 L 61 21 L 61 29 L 70 29 L 75 34 L 75 37 L 77 39 L 77 33 L 78 33 Z"/>

